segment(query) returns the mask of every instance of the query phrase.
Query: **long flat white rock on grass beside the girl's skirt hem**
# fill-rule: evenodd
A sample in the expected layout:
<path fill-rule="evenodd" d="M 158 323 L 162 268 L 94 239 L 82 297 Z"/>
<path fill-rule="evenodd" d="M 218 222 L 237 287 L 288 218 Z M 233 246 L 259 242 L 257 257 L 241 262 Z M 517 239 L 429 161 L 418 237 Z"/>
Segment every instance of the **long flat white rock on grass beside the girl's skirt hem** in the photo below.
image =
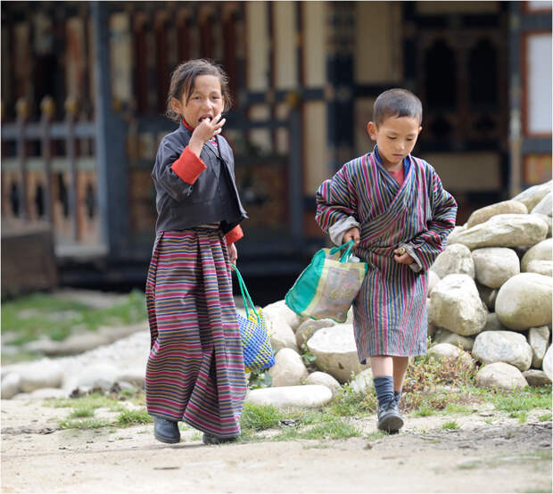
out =
<path fill-rule="evenodd" d="M 272 405 L 276 408 L 319 408 L 332 399 L 332 391 L 326 386 L 285 386 L 280 388 L 260 388 L 249 391 L 246 403 Z"/>

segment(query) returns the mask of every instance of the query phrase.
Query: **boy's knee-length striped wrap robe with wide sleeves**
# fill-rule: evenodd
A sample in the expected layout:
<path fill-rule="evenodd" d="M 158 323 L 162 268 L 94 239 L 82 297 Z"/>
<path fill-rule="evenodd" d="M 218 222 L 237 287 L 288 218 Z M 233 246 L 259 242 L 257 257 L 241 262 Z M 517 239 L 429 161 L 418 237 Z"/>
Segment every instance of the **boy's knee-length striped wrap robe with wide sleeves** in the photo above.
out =
<path fill-rule="evenodd" d="M 343 165 L 317 191 L 315 219 L 323 231 L 348 220 L 359 225 L 354 253 L 368 270 L 353 302 L 353 330 L 362 364 L 376 355 L 426 353 L 427 271 L 455 226 L 457 203 L 433 167 L 411 155 L 403 166 L 399 185 L 375 147 Z M 414 263 L 393 259 L 400 246 Z"/>

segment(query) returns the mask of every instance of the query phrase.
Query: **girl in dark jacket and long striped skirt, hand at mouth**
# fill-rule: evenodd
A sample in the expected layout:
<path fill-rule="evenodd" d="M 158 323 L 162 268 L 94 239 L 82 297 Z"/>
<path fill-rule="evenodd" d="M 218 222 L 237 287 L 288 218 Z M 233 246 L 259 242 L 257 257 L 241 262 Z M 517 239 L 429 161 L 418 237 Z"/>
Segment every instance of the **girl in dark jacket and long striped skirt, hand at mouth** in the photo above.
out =
<path fill-rule="evenodd" d="M 161 140 L 152 173 L 158 218 L 146 281 L 146 408 L 157 440 L 178 442 L 182 420 L 214 444 L 240 434 L 246 392 L 230 263 L 247 216 L 233 152 L 220 136 L 227 76 L 205 60 L 182 63 L 167 103 L 179 127 Z"/>

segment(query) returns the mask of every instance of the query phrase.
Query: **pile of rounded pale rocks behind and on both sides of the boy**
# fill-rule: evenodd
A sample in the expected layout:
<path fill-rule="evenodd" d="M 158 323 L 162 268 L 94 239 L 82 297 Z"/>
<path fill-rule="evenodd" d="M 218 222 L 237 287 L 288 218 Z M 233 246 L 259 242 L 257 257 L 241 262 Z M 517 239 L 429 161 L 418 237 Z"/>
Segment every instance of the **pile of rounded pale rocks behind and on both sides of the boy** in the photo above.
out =
<path fill-rule="evenodd" d="M 511 390 L 551 383 L 551 190 L 552 182 L 536 185 L 475 210 L 431 268 L 428 332 L 438 344 L 429 353 L 483 364 L 478 385 Z M 251 391 L 248 400 L 290 406 L 301 398 L 304 406 L 318 406 L 341 383 L 351 381 L 356 390 L 372 385 L 370 369 L 359 365 L 351 312 L 345 324 L 302 319 L 285 301 L 263 312 L 276 351 L 268 371 L 273 387 Z M 305 353 L 316 358 L 317 372 L 308 372 Z"/>

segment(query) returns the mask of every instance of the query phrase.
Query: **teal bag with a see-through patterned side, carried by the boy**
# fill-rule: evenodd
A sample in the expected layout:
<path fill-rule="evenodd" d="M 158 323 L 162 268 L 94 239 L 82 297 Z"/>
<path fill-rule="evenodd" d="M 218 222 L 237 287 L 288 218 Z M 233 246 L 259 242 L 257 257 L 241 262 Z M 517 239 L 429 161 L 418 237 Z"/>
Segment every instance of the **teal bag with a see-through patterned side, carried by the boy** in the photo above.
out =
<path fill-rule="evenodd" d="M 353 243 L 318 251 L 286 293 L 286 305 L 301 317 L 343 323 L 367 274 L 366 262 L 351 261 Z"/>

